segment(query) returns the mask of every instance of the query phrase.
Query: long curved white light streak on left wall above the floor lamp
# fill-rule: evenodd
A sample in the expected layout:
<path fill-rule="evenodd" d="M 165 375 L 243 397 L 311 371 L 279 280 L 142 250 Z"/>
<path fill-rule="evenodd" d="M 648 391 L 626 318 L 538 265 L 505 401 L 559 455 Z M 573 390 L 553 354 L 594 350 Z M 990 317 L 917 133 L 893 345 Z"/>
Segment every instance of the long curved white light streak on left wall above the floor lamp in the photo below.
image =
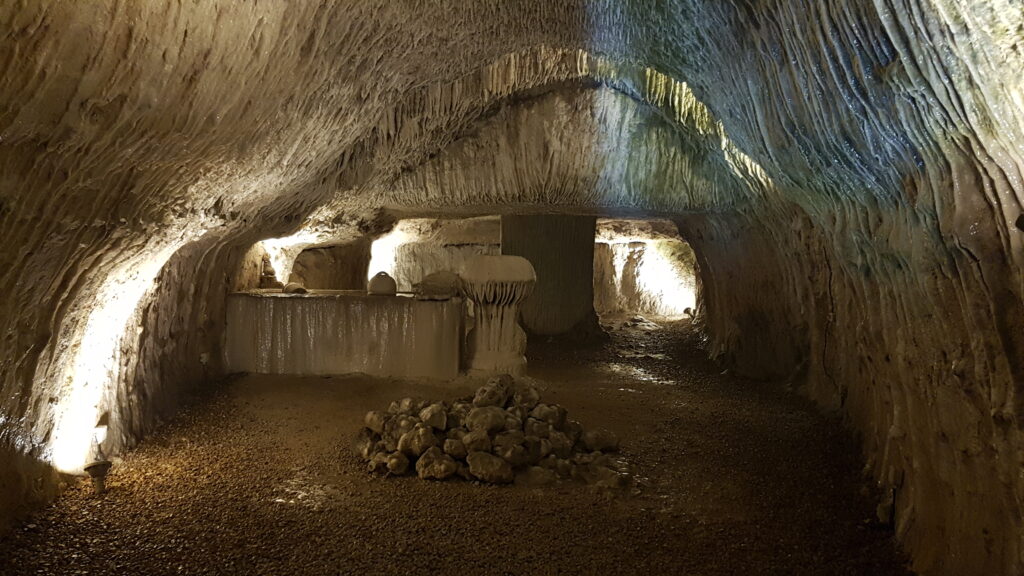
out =
<path fill-rule="evenodd" d="M 110 274 L 96 294 L 85 328 L 78 333 L 74 361 L 63 373 L 66 393 L 56 410 L 56 423 L 48 447 L 49 460 L 55 468 L 68 474 L 81 474 L 91 455 L 92 444 L 102 427 L 99 423 L 101 404 L 112 382 L 121 371 L 124 339 L 136 337 L 140 327 L 139 303 L 154 288 L 154 281 L 164 264 L 178 248 L 204 234 L 199 231 L 183 235 L 146 258 L 124 264 Z M 132 319 L 135 318 L 132 326 Z M 134 329 L 133 329 L 134 328 Z"/>

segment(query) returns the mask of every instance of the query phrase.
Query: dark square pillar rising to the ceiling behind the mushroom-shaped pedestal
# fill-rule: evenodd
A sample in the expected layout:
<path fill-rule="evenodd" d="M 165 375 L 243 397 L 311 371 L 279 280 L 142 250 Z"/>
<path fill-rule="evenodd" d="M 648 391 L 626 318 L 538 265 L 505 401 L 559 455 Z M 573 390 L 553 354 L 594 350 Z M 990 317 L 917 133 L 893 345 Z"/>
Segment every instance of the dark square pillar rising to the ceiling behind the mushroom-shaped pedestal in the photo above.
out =
<path fill-rule="evenodd" d="M 594 312 L 592 216 L 502 216 L 502 254 L 522 256 L 537 271 L 537 287 L 522 303 L 531 334 L 599 330 Z"/>

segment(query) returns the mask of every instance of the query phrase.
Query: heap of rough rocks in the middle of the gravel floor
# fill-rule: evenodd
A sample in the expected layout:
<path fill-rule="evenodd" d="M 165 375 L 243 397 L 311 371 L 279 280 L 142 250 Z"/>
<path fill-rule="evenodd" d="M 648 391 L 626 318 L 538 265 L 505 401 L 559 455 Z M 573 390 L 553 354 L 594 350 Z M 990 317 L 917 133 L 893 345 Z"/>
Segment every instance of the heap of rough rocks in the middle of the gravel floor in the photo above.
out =
<path fill-rule="evenodd" d="M 618 450 L 615 435 L 585 430 L 561 406 L 542 403 L 529 381 L 508 375 L 453 403 L 392 402 L 386 412 L 367 413 L 365 423 L 353 449 L 372 472 L 492 484 L 571 479 L 605 488 L 631 482 L 628 464 L 609 454 Z"/>

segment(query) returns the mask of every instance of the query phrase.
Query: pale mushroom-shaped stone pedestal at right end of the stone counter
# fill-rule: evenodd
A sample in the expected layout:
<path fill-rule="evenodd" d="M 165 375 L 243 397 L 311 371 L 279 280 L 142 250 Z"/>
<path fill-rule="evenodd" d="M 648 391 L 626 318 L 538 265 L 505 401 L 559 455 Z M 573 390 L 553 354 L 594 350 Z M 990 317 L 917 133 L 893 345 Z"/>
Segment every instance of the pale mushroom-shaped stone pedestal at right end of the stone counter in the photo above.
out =
<path fill-rule="evenodd" d="M 519 302 L 537 282 L 534 266 L 518 256 L 476 256 L 463 264 L 460 276 L 476 312 L 468 336 L 470 373 L 525 373 L 526 334 L 518 315 Z"/>

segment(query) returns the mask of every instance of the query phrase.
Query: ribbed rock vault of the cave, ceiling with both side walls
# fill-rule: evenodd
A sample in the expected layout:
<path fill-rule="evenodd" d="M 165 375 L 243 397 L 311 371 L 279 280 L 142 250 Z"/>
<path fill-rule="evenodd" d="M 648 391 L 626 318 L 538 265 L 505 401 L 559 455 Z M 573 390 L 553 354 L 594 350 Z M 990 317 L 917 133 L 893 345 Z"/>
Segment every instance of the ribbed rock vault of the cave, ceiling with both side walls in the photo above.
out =
<path fill-rule="evenodd" d="M 266 238 L 671 217 L 712 349 L 863 439 L 924 574 L 1024 571 L 1017 0 L 0 4 L 0 518 L 223 374 Z M 443 22 L 443 27 L 436 23 Z M 255 271 L 255 275 L 254 275 Z"/>

